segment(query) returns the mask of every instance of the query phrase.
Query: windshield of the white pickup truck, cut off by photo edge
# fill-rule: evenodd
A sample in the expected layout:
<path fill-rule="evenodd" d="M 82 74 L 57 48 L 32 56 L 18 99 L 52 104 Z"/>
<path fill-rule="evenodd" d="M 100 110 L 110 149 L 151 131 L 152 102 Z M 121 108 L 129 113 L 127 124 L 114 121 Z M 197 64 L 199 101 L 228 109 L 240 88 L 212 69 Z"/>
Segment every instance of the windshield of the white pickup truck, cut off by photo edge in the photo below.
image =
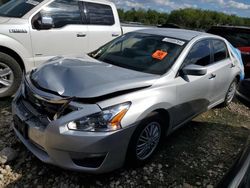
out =
<path fill-rule="evenodd" d="M 21 18 L 43 0 L 9 0 L 0 4 L 0 16 Z"/>

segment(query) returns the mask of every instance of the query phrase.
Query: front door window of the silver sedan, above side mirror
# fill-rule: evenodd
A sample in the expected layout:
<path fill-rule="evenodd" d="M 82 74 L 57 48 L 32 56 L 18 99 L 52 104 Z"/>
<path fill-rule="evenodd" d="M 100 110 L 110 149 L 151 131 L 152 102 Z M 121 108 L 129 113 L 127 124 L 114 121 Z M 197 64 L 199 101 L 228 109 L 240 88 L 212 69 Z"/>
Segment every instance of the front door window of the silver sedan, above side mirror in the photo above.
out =
<path fill-rule="evenodd" d="M 184 66 L 186 65 L 200 65 L 207 66 L 211 63 L 211 48 L 209 40 L 202 40 L 197 42 L 189 51 Z"/>

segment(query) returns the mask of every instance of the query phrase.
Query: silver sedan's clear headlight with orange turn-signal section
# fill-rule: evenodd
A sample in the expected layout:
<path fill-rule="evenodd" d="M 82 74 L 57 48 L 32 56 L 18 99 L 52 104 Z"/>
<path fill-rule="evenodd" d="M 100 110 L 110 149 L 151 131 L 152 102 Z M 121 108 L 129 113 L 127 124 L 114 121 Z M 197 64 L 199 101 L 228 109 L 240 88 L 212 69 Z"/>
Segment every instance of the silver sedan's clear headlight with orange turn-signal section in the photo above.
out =
<path fill-rule="evenodd" d="M 123 103 L 104 109 L 100 113 L 83 117 L 68 123 L 70 130 L 107 132 L 121 128 L 121 120 L 127 113 L 131 103 Z"/>

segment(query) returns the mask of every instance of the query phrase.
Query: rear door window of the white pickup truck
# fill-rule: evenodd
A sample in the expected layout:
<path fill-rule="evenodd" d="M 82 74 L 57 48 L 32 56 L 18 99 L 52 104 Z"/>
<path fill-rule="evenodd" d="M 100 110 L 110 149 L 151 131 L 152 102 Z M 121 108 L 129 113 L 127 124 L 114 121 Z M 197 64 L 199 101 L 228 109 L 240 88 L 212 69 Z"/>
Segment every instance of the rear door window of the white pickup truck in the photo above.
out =
<path fill-rule="evenodd" d="M 98 3 L 85 3 L 88 23 L 91 25 L 114 25 L 111 6 Z"/>

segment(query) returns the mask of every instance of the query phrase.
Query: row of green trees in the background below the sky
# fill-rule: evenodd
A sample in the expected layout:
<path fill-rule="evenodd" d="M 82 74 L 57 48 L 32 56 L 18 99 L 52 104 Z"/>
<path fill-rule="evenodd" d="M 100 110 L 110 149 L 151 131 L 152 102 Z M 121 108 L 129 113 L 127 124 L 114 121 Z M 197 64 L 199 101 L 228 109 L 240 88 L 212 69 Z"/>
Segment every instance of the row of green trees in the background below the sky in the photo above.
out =
<path fill-rule="evenodd" d="M 174 10 L 170 14 L 151 9 L 131 9 L 128 11 L 119 9 L 118 12 L 122 22 L 140 22 L 150 25 L 174 23 L 184 28 L 200 30 L 208 29 L 213 25 L 250 26 L 250 18 L 192 8 Z"/>

